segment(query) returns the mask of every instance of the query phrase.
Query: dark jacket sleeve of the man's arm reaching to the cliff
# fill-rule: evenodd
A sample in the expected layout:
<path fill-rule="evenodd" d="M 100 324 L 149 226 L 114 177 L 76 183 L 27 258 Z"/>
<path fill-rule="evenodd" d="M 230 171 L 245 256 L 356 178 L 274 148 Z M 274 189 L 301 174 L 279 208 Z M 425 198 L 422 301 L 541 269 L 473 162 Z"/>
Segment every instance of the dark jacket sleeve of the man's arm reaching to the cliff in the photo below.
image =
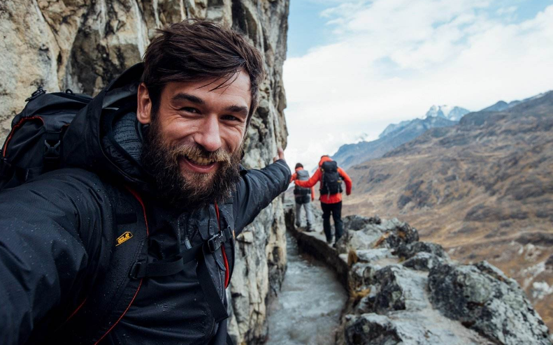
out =
<path fill-rule="evenodd" d="M 282 159 L 261 170 L 247 170 L 238 183 L 233 203 L 236 235 L 241 233 L 273 199 L 286 191 L 291 175 L 292 172 Z"/>

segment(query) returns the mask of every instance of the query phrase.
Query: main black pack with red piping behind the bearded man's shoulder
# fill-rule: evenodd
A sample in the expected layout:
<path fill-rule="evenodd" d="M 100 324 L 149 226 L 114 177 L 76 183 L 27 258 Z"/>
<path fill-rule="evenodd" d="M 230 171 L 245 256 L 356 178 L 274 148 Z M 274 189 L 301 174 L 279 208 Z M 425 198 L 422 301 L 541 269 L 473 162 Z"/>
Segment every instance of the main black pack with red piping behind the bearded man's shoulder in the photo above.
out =
<path fill-rule="evenodd" d="M 46 94 L 42 87 L 12 121 L 2 146 L 0 190 L 19 186 L 44 172 L 59 168 L 62 136 L 73 117 L 92 97 L 65 92 Z"/>

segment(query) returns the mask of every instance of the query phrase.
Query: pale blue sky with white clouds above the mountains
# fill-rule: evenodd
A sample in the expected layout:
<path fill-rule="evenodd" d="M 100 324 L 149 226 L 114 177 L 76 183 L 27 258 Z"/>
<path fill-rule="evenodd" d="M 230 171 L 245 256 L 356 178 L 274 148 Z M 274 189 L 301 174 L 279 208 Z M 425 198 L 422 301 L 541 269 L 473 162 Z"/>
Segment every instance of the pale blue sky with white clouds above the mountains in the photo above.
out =
<path fill-rule="evenodd" d="M 291 0 L 287 161 L 315 167 L 431 105 L 553 89 L 553 0 Z"/>

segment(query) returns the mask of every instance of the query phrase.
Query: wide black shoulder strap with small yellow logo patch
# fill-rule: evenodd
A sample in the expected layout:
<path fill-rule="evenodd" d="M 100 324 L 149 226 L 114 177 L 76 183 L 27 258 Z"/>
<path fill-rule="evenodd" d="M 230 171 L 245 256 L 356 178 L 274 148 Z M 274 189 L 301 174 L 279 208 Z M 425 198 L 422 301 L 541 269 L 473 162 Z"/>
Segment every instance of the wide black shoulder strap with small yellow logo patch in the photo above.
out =
<path fill-rule="evenodd" d="M 107 184 L 106 184 L 107 186 Z M 55 332 L 59 344 L 97 344 L 113 330 L 134 302 L 143 279 L 129 272 L 148 255 L 148 219 L 141 197 L 132 189 L 108 189 L 112 203 L 113 233 L 106 234 L 107 267 L 97 274 L 88 295 Z"/>

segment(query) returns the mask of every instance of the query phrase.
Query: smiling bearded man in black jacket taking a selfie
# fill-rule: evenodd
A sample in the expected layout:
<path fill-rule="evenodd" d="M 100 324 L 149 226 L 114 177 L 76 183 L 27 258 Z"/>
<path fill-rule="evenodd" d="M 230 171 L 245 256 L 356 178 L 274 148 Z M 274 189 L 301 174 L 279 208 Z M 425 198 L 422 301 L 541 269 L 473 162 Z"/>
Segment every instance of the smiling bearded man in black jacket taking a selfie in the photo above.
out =
<path fill-rule="evenodd" d="M 77 113 L 61 168 L 0 193 L 1 344 L 230 342 L 234 237 L 291 175 L 282 149 L 240 166 L 263 78 L 243 36 L 185 21 Z"/>

